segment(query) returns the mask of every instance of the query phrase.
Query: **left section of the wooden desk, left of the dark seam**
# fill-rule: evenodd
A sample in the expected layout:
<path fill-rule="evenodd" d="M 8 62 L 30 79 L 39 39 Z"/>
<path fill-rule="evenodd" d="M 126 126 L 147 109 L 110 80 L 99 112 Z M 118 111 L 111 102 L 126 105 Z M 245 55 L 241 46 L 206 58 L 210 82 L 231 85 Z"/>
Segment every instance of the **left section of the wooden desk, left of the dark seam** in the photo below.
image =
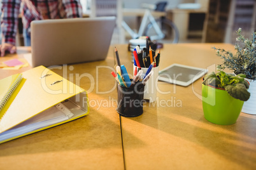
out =
<path fill-rule="evenodd" d="M 24 48 L 18 48 L 18 55 L 1 57 L 0 62 L 22 57 L 22 53 L 25 53 Z M 88 90 L 93 82 L 90 82 L 89 76 L 86 75 L 92 75 L 96 80 L 96 66 L 113 67 L 112 55 L 113 53 L 110 53 L 108 58 L 101 62 L 76 64 L 53 71 L 62 76 L 66 74 L 70 81 Z M 98 72 L 98 91 L 109 90 L 110 86 L 115 86 L 110 69 L 101 68 Z M 1 78 L 10 74 L 13 74 L 13 71 L 8 73 L 0 69 Z M 80 81 L 76 76 L 81 76 Z M 104 81 L 108 82 L 108 86 L 105 86 Z M 0 169 L 124 169 L 120 117 L 115 111 L 117 106 L 115 103 L 114 106 L 106 106 L 109 96 L 117 98 L 117 91 L 97 94 L 96 83 L 94 85 L 88 95 L 89 115 L 1 144 Z M 104 102 L 106 107 L 98 108 L 97 101 Z"/>

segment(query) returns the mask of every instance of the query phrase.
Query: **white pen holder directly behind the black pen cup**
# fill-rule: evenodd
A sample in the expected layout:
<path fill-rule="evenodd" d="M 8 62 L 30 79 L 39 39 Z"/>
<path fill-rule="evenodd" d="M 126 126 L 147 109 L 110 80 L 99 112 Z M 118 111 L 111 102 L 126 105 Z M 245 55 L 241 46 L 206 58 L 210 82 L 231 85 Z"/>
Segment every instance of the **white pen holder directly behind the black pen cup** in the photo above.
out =
<path fill-rule="evenodd" d="M 133 65 L 133 72 L 135 69 L 138 70 L 138 67 Z M 143 77 L 144 77 L 146 70 L 148 70 L 148 68 L 141 67 L 141 70 L 143 70 Z M 148 81 L 146 81 L 145 90 L 144 90 L 144 99 L 148 100 L 150 103 L 157 99 L 157 81 L 159 76 L 159 73 L 158 73 L 159 67 L 153 67 L 152 71 L 153 71 L 153 76 L 150 77 Z"/>

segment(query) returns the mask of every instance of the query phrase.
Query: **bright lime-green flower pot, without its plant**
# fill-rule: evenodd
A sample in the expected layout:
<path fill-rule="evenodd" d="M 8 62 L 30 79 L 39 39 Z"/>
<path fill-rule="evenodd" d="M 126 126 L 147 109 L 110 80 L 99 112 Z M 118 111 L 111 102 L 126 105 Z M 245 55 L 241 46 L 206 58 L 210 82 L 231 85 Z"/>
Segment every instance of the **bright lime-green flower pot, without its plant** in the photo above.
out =
<path fill-rule="evenodd" d="M 204 117 L 214 124 L 234 124 L 239 117 L 244 101 L 230 96 L 224 89 L 202 84 Z"/>

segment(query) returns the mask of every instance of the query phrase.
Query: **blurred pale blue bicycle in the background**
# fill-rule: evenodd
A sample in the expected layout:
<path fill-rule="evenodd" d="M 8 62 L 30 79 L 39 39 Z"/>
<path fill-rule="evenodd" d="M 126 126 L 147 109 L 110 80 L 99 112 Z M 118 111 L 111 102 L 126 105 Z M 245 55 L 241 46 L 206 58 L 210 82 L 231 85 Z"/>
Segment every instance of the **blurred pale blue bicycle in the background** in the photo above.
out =
<path fill-rule="evenodd" d="M 166 40 L 167 42 L 177 43 L 179 40 L 176 25 L 164 16 L 155 20 L 150 10 L 145 11 L 138 33 L 134 32 L 124 20 L 122 21 L 122 27 L 131 35 L 132 39 L 148 36 L 152 41 L 157 40 L 158 42 Z"/>

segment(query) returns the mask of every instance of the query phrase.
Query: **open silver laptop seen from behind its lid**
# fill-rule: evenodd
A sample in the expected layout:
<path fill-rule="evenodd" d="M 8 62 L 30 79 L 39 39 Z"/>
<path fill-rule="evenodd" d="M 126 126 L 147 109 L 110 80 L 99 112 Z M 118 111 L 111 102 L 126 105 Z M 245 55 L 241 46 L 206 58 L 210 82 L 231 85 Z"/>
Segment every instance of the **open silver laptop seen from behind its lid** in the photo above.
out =
<path fill-rule="evenodd" d="M 115 23 L 115 16 L 31 22 L 31 66 L 104 60 Z"/>

